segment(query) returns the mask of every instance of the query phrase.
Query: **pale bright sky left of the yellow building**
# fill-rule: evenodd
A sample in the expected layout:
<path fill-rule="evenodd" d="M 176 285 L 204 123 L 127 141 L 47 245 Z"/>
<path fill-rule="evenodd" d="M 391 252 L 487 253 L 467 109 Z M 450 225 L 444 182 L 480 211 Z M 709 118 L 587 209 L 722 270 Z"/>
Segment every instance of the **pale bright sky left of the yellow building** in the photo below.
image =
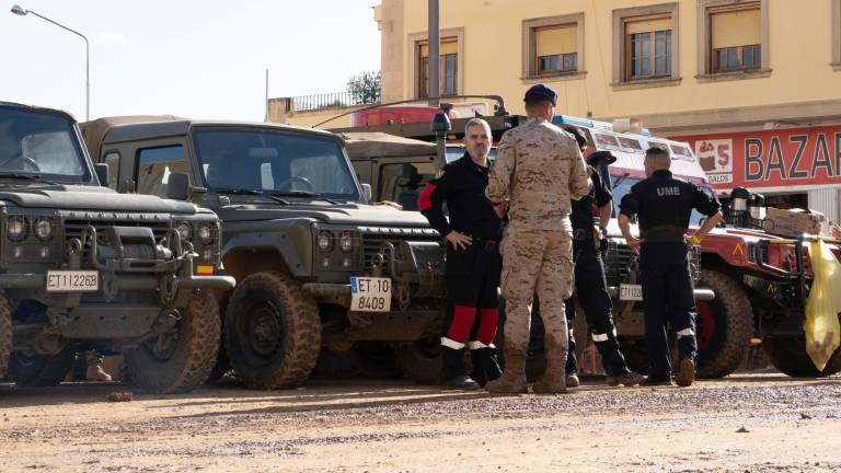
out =
<path fill-rule="evenodd" d="M 84 119 L 170 114 L 263 120 L 268 96 L 342 92 L 380 69 L 379 0 L 0 0 L 0 101 Z"/>

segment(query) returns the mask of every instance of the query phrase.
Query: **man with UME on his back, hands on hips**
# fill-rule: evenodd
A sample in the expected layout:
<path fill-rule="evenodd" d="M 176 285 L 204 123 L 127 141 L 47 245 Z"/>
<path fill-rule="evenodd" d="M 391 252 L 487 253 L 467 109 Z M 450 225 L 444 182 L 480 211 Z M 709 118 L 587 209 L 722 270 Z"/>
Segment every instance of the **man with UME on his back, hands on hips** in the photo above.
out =
<path fill-rule="evenodd" d="M 671 382 L 666 323 L 678 335 L 678 385 L 695 379 L 695 300 L 689 270 L 689 245 L 701 240 L 722 219 L 721 205 L 694 184 L 672 177 L 671 159 L 663 148 L 645 152 L 648 176 L 631 187 L 621 204 L 619 226 L 627 244 L 640 253 L 645 336 L 650 359 L 646 384 Z M 692 236 L 687 236 L 692 209 L 707 216 Z M 631 234 L 630 217 L 640 216 L 640 238 Z"/>

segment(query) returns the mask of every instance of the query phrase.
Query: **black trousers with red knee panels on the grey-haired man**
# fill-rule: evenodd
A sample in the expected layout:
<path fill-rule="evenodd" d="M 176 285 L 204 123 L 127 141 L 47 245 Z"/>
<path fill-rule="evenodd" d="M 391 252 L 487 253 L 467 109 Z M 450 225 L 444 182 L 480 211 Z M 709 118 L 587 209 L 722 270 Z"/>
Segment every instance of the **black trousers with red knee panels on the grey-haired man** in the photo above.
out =
<path fill-rule="evenodd" d="M 463 353 L 470 348 L 472 378 L 484 385 L 499 377 L 493 342 L 499 325 L 499 276 L 503 258 L 499 242 L 473 236 L 464 250 L 447 244 L 447 318 L 442 379 L 464 373 Z"/>

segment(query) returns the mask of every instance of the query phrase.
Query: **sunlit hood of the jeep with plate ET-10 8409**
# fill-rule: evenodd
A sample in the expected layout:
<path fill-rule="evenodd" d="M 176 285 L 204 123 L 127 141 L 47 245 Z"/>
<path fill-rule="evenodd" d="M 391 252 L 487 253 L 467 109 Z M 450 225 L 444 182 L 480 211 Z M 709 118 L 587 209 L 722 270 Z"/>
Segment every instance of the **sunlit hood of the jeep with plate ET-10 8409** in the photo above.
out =
<path fill-rule="evenodd" d="M 322 223 L 350 226 L 429 227 L 426 217 L 416 211 L 398 210 L 381 205 L 288 205 L 234 204 L 217 209 L 222 221 L 272 219 L 313 219 Z"/>

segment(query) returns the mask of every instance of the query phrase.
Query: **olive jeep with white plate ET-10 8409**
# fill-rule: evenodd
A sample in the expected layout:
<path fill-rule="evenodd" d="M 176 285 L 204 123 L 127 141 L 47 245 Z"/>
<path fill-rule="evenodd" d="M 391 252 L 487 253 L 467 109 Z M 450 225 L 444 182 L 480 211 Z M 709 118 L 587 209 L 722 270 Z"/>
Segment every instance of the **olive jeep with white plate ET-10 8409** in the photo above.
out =
<path fill-rule="evenodd" d="M 186 173 L 188 199 L 219 215 L 224 273 L 238 280 L 218 295 L 226 355 L 246 385 L 302 382 L 322 347 L 401 350 L 440 333 L 440 235 L 418 212 L 368 205 L 335 135 L 174 117 L 83 130 L 113 188 L 160 195 Z"/>

